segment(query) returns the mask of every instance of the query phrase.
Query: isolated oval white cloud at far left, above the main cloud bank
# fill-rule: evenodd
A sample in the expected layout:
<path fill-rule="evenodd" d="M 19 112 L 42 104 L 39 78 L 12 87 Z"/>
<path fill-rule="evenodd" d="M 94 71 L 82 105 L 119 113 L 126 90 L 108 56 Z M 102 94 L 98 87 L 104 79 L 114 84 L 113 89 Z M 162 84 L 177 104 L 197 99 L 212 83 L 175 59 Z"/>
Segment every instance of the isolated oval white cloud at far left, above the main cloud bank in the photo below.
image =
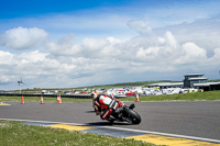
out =
<path fill-rule="evenodd" d="M 42 29 L 19 26 L 7 31 L 1 44 L 7 48 L 29 49 L 44 43 L 46 37 L 47 33 Z"/>

